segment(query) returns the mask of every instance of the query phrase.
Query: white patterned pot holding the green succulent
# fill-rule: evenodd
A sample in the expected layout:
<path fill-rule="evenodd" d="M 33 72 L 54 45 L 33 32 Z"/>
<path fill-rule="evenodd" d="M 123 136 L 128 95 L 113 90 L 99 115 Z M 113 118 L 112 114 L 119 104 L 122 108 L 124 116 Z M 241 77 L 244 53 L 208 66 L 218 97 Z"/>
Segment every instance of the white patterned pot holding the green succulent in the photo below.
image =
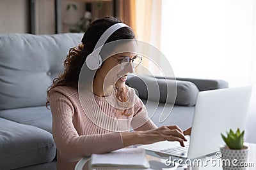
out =
<path fill-rule="evenodd" d="M 222 146 L 220 151 L 222 153 L 221 162 L 223 164 L 223 170 L 246 169 L 246 167 L 243 167 L 243 163 L 248 162 L 248 146 L 243 146 L 241 150 L 230 150 L 227 146 Z"/>

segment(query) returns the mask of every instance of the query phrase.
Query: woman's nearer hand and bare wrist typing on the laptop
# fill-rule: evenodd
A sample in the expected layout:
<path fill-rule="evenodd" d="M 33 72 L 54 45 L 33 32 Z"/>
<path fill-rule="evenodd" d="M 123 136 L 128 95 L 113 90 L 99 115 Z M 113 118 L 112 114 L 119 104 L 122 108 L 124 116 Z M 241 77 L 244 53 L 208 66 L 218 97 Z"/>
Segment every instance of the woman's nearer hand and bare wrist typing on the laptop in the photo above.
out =
<path fill-rule="evenodd" d="M 137 132 L 122 132 L 124 146 L 136 144 L 151 144 L 158 141 L 179 141 L 184 146 L 187 141 L 183 131 L 177 125 L 162 126 L 157 129 Z"/>

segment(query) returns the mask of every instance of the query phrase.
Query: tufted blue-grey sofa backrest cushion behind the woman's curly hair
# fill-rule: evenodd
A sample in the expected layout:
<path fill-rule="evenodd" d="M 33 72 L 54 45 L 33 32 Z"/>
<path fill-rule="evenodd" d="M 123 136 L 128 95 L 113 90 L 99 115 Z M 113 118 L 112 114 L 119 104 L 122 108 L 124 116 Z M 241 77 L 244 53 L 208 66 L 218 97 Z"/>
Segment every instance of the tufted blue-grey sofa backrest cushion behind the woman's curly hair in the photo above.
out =
<path fill-rule="evenodd" d="M 43 106 L 63 71 L 68 50 L 83 34 L 0 34 L 0 110 Z"/>

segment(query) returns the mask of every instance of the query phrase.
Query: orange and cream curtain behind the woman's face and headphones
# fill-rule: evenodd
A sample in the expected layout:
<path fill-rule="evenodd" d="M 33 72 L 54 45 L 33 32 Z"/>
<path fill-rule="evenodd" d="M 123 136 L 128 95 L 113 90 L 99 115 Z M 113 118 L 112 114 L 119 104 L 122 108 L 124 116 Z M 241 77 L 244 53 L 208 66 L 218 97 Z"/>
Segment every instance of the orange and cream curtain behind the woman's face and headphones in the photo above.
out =
<path fill-rule="evenodd" d="M 139 41 L 160 48 L 161 3 L 161 0 L 118 0 L 116 13 L 125 24 L 132 27 Z M 153 73 L 159 72 L 147 59 L 143 59 L 141 65 L 144 68 L 137 67 L 136 73 L 147 74 L 145 68 L 151 69 Z"/>

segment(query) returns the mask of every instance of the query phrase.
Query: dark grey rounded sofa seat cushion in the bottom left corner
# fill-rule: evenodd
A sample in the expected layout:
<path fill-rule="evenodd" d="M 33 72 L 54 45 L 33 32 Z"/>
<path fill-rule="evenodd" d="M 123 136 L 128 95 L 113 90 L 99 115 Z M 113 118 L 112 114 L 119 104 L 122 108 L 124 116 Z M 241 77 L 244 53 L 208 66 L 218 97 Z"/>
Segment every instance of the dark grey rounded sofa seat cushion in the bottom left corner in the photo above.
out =
<path fill-rule="evenodd" d="M 56 155 L 52 134 L 0 118 L 0 167 L 15 169 L 51 162 Z"/>

